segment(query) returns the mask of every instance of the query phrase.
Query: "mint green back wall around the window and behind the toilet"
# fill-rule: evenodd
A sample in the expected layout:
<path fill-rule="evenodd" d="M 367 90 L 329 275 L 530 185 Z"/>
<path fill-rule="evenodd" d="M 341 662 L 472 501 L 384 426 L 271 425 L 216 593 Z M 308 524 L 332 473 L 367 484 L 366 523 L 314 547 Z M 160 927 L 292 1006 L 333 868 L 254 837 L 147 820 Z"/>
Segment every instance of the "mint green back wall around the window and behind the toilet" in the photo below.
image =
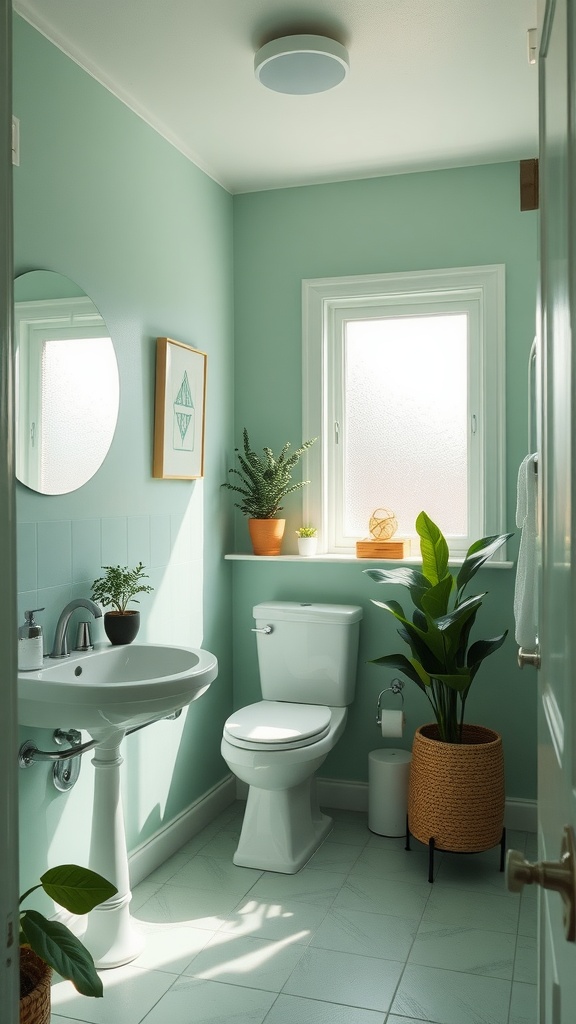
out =
<path fill-rule="evenodd" d="M 302 279 L 505 264 L 507 520 L 515 529 L 516 477 L 527 451 L 527 361 L 537 274 L 537 214 L 520 212 L 518 164 L 239 196 L 234 215 L 236 439 L 245 425 L 256 449 L 301 439 Z M 298 496 L 286 506 L 287 550 L 293 550 L 299 507 Z M 236 529 L 237 550 L 249 551 L 241 517 Z M 515 556 L 518 539 L 511 549 Z M 390 679 L 367 662 L 397 649 L 398 640 L 394 625 L 382 622 L 383 612 L 370 604 L 372 597 L 384 596 L 383 588 L 362 575 L 366 563 L 233 565 L 237 705 L 258 693 L 249 633 L 253 603 L 276 598 L 353 601 L 364 607 L 357 699 L 346 732 L 321 773 L 366 780 L 367 753 L 382 744 L 374 725 L 376 698 Z M 479 674 L 469 719 L 501 730 L 508 797 L 534 799 L 535 675 L 521 675 L 516 667 L 513 572 L 486 569 L 479 585 L 490 591 L 479 614 L 482 635 L 506 627 L 511 635 Z M 406 746 L 414 728 L 429 720 L 425 698 L 414 690 L 407 684 Z"/>

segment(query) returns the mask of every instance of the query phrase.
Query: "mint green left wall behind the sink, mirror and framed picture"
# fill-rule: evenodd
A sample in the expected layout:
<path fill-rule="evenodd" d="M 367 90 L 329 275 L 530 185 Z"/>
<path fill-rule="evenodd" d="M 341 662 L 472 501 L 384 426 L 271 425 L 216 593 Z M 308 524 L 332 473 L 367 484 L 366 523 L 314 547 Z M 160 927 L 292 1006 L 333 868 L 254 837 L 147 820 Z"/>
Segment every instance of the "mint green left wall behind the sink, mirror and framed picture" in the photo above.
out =
<path fill-rule="evenodd" d="M 102 563 L 141 558 L 155 592 L 140 605 L 140 638 L 202 644 L 219 659 L 218 679 L 188 714 L 125 742 L 133 849 L 227 774 L 219 740 L 232 701 L 222 559 L 231 514 L 219 484 L 233 438 L 233 203 L 18 17 L 14 114 L 15 272 L 56 270 L 90 295 L 110 328 L 121 381 L 116 436 L 94 478 L 61 497 L 17 486 L 19 616 L 45 605 L 49 645 L 57 613 L 71 597 L 89 595 Z M 208 353 L 205 478 L 196 482 L 152 479 L 158 336 Z M 29 735 L 52 745 L 48 731 L 22 730 L 20 738 Z M 46 858 L 85 861 L 89 757 L 69 795 L 56 793 L 45 765 L 22 771 L 19 787 L 23 882 L 33 884 Z"/>

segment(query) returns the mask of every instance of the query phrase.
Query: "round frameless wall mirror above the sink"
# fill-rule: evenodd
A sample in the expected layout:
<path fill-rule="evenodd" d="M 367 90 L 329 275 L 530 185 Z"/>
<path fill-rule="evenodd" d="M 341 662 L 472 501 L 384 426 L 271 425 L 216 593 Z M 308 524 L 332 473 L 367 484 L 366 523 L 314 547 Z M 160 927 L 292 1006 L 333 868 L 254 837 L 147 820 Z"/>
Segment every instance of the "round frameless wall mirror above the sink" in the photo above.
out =
<path fill-rule="evenodd" d="M 73 281 L 32 270 L 14 282 L 16 476 L 65 495 L 101 466 L 114 437 L 120 384 L 114 345 Z"/>

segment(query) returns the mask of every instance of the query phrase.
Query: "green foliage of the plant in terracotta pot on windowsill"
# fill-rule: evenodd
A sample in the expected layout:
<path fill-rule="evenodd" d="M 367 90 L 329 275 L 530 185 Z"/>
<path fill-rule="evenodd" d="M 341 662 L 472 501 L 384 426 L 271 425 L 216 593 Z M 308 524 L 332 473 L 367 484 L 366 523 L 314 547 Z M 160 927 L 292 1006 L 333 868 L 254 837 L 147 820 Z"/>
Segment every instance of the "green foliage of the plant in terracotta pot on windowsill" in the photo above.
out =
<path fill-rule="evenodd" d="M 315 440 L 316 437 L 310 441 L 302 441 L 301 446 L 291 455 L 288 455 L 290 441 L 286 441 L 279 456 L 275 456 L 272 449 L 264 447 L 262 458 L 252 451 L 245 427 L 243 452 L 235 449 L 240 469 L 229 470 L 240 482 L 230 480 L 224 482 L 225 487 L 242 496 L 239 502 L 235 502 L 236 507 L 251 519 L 275 518 L 278 512 L 282 511 L 281 502 L 284 498 L 310 483 L 310 480 L 292 483 L 292 470 Z"/>

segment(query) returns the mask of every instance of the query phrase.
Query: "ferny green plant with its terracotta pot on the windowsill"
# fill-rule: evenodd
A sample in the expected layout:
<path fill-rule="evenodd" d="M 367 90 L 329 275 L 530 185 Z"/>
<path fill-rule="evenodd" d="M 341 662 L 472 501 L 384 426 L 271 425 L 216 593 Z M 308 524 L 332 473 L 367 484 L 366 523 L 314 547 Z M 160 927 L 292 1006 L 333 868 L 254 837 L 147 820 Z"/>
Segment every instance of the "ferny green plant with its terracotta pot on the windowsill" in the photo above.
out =
<path fill-rule="evenodd" d="M 298 480 L 292 483 L 292 470 L 300 457 L 312 447 L 316 440 L 303 441 L 301 447 L 288 455 L 290 441 L 275 456 L 270 447 L 264 447 L 263 458 L 256 455 L 250 447 L 248 431 L 244 428 L 243 453 L 235 449 L 240 469 L 229 472 L 238 477 L 240 483 L 224 482 L 224 487 L 242 495 L 240 502 L 235 502 L 245 516 L 248 517 L 248 529 L 255 555 L 279 555 L 286 526 L 285 519 L 279 519 L 282 511 L 280 504 L 287 495 L 303 487 L 310 480 Z"/>

